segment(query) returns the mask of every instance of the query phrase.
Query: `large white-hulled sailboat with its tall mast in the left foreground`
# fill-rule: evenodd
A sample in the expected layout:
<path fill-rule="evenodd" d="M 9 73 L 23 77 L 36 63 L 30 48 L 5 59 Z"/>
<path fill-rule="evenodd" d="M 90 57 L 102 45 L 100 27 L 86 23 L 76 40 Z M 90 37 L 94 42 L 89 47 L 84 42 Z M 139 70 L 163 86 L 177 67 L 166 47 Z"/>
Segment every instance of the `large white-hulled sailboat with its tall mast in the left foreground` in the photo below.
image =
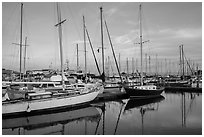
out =
<path fill-rule="evenodd" d="M 58 13 L 58 27 L 59 31 L 59 43 L 60 43 L 60 59 L 61 59 L 61 71 L 63 75 L 63 50 L 62 50 L 62 23 L 60 8 L 57 3 Z M 87 84 L 83 89 L 65 89 L 65 82 L 62 76 L 63 90 L 54 91 L 39 91 L 39 92 L 27 92 L 23 98 L 10 100 L 9 98 L 2 101 L 2 115 L 16 115 L 25 113 L 35 113 L 47 110 L 53 110 L 57 108 L 73 107 L 89 103 L 94 100 L 99 92 L 103 90 L 103 86 L 100 83 Z"/>

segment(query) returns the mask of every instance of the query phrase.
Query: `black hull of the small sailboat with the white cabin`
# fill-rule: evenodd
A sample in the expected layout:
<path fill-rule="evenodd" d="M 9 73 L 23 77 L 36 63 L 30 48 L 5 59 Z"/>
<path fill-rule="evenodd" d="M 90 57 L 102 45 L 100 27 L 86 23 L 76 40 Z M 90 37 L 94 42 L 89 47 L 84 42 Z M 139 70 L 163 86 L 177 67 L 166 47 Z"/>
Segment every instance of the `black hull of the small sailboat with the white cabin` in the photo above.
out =
<path fill-rule="evenodd" d="M 160 96 L 164 91 L 164 88 L 158 88 L 156 90 L 135 89 L 133 87 L 124 87 L 126 93 L 130 97 L 134 98 L 152 98 Z"/>

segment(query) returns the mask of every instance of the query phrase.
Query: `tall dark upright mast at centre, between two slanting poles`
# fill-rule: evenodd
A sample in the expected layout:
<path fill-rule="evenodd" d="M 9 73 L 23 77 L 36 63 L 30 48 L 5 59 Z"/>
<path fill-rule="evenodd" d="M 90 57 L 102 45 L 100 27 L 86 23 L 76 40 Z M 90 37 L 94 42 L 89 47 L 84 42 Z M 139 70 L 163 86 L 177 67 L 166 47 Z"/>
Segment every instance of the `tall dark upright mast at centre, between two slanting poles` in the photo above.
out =
<path fill-rule="evenodd" d="M 105 66 L 104 66 L 104 45 L 103 45 L 103 9 L 100 7 L 101 13 L 101 45 L 102 45 L 102 66 L 103 66 L 103 73 L 102 73 L 102 81 L 105 82 Z"/>

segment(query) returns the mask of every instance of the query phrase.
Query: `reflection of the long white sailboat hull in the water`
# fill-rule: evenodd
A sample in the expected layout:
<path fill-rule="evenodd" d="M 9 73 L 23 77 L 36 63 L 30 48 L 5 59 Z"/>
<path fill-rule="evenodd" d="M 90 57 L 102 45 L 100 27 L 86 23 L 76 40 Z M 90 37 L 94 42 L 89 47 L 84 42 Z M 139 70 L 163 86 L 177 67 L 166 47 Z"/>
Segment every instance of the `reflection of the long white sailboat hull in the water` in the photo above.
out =
<path fill-rule="evenodd" d="M 88 106 L 73 110 L 64 110 L 58 113 L 33 115 L 18 118 L 7 118 L 2 120 L 2 129 L 23 128 L 32 130 L 36 128 L 48 127 L 52 125 L 66 124 L 71 121 L 82 119 L 96 120 L 100 118 L 101 109 Z"/>

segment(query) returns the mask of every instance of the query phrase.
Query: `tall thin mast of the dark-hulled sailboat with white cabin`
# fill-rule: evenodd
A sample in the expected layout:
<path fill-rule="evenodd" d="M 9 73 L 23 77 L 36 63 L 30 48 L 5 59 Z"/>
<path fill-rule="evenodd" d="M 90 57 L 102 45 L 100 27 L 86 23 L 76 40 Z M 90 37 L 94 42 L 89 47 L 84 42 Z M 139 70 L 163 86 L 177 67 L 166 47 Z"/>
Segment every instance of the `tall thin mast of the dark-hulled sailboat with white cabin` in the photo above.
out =
<path fill-rule="evenodd" d="M 142 73 L 142 13 L 141 13 L 141 10 L 142 10 L 142 5 L 140 4 L 140 7 L 139 7 L 139 15 L 140 15 L 140 52 L 141 52 L 141 57 L 140 57 L 140 62 L 141 62 L 141 66 L 140 66 L 140 75 L 141 75 L 141 79 L 140 79 L 140 84 L 141 86 L 143 85 L 143 73 Z"/>

